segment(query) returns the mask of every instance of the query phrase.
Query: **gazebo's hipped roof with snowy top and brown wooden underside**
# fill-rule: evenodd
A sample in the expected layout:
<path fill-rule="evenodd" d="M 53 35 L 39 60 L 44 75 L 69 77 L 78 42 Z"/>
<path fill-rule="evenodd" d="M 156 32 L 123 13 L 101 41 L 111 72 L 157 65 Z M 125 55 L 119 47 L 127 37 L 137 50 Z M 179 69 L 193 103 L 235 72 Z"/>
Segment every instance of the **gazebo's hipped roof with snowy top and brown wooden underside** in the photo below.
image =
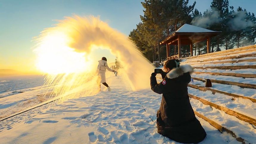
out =
<path fill-rule="evenodd" d="M 180 35 L 181 45 L 190 45 L 191 43 L 197 43 L 207 40 L 208 37 L 215 37 L 221 34 L 221 32 L 215 32 L 209 29 L 204 29 L 198 26 L 192 26 L 190 24 L 184 24 L 172 35 L 168 36 L 162 42 L 162 44 L 177 45 L 178 35 Z"/>

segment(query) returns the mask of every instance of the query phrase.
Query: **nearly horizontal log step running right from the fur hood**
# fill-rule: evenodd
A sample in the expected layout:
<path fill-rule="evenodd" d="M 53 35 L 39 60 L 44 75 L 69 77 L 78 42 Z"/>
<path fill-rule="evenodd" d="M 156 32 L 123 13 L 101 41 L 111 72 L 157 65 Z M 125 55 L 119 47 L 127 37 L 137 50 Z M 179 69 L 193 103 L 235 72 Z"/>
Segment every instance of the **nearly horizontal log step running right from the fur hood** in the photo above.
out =
<path fill-rule="evenodd" d="M 240 70 L 240 69 L 256 69 L 256 65 L 233 65 L 233 66 L 205 66 L 205 67 L 193 67 L 197 69 L 218 69 L 218 70 Z"/>

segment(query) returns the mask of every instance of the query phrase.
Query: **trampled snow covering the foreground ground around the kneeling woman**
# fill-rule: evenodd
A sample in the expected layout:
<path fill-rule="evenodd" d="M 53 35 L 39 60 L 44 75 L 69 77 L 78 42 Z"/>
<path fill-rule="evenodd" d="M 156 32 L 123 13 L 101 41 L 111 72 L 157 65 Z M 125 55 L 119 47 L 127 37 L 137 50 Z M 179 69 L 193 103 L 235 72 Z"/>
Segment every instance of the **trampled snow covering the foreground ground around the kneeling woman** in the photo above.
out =
<path fill-rule="evenodd" d="M 0 143 L 177 143 L 157 133 L 156 112 L 161 95 L 150 89 L 132 91 L 122 76 L 109 72 L 108 81 L 111 92 L 102 87 L 95 96 L 83 97 L 81 93 L 80 98 L 46 104 L 0 121 Z M 43 89 L 35 92 L 43 93 Z M 35 95 L 25 93 L 27 97 Z M 5 98 L 11 97 L 15 95 Z M 234 130 L 250 143 L 256 143 L 256 132 L 249 123 L 197 100 L 192 99 L 191 104 L 197 112 Z M 230 134 L 221 133 L 205 120 L 198 119 L 207 132 L 202 144 L 240 143 Z"/>

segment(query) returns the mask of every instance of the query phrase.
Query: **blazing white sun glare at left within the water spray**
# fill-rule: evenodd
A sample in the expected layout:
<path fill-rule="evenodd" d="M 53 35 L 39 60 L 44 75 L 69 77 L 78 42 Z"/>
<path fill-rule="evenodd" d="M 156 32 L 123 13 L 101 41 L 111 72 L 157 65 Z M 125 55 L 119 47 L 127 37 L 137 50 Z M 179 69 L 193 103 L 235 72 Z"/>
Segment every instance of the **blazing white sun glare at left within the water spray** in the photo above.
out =
<path fill-rule="evenodd" d="M 37 53 L 36 67 L 39 71 L 48 74 L 89 71 L 91 62 L 86 53 L 78 53 L 68 47 L 70 39 L 63 33 L 51 33 L 40 41 L 34 50 Z"/>

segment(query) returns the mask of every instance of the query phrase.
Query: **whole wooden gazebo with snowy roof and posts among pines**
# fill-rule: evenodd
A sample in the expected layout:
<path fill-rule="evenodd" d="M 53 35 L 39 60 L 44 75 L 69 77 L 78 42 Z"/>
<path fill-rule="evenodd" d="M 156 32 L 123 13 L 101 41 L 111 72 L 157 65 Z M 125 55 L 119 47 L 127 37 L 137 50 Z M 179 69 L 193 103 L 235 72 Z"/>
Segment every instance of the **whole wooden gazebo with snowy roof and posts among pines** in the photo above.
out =
<path fill-rule="evenodd" d="M 210 53 L 210 38 L 220 35 L 221 32 L 215 32 L 208 29 L 204 29 L 198 26 L 192 26 L 190 24 L 184 24 L 180 27 L 177 31 L 175 31 L 172 35 L 168 36 L 160 45 L 166 44 L 166 51 L 167 51 L 167 60 L 170 59 L 179 59 L 182 55 L 181 54 L 181 45 L 190 45 L 190 54 L 193 56 L 193 43 L 198 43 L 204 40 L 207 40 L 207 53 Z M 178 45 L 178 54 L 169 57 L 170 45 Z"/>

